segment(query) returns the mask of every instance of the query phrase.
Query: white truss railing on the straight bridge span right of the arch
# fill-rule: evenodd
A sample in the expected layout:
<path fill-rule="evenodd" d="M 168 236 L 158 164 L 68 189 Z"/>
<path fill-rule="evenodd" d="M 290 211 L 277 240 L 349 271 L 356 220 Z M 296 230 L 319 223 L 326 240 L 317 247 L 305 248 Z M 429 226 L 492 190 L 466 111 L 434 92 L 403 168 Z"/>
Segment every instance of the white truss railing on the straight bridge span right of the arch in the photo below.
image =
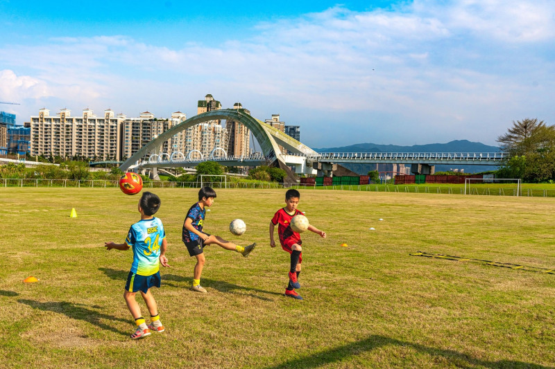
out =
<path fill-rule="evenodd" d="M 345 159 L 345 160 L 439 160 L 439 161 L 504 161 L 505 152 L 322 152 L 320 154 L 288 154 L 305 156 L 309 160 Z"/>

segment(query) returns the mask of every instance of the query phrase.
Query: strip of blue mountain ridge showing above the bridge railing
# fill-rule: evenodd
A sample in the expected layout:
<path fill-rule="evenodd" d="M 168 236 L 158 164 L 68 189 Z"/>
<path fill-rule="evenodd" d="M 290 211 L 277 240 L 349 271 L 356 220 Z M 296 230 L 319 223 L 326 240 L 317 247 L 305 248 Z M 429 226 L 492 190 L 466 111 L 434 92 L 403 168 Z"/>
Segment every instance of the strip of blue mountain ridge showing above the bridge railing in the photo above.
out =
<path fill-rule="evenodd" d="M 343 147 L 314 149 L 316 152 L 499 152 L 499 147 L 484 143 L 456 140 L 448 143 L 429 143 L 427 145 L 399 146 L 378 145 L 377 143 L 356 143 Z"/>

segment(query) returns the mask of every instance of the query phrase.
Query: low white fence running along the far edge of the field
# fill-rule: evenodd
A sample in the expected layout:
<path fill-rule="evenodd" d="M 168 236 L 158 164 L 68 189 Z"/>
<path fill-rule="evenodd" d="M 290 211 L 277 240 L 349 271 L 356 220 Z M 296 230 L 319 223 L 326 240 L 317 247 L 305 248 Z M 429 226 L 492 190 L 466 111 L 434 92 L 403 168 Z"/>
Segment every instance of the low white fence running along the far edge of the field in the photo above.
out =
<path fill-rule="evenodd" d="M 348 190 L 365 192 L 404 192 L 404 193 L 436 193 L 444 195 L 464 195 L 464 188 L 445 186 L 407 186 L 407 185 L 332 185 L 316 186 L 314 184 L 297 184 L 284 186 L 275 182 L 203 182 L 203 186 L 212 188 L 300 188 L 307 190 Z M 0 188 L 6 187 L 62 187 L 62 188 L 117 188 L 118 181 L 104 179 L 0 179 Z M 200 182 L 170 182 L 170 181 L 148 181 L 144 182 L 143 188 L 200 188 Z M 468 191 L 467 191 L 468 192 Z M 473 187 L 469 195 L 486 196 L 517 196 L 516 188 L 488 188 L 484 186 Z M 555 197 L 555 189 L 551 188 L 521 188 L 520 196 L 524 197 Z"/>

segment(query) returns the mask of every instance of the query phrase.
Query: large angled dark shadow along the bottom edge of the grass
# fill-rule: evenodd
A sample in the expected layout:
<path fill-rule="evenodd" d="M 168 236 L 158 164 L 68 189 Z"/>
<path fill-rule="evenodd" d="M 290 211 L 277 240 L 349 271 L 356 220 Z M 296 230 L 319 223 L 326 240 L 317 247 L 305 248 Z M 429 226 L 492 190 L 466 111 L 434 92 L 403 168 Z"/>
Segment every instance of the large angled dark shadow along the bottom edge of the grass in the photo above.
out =
<path fill-rule="evenodd" d="M 276 366 L 268 366 L 266 369 L 283 369 L 283 368 L 318 368 L 325 364 L 336 363 L 345 358 L 356 356 L 361 352 L 372 351 L 385 345 L 398 345 L 429 354 L 431 357 L 442 357 L 450 364 L 456 367 L 467 368 L 468 366 L 482 366 L 484 368 L 536 368 L 536 369 L 553 369 L 552 366 L 541 366 L 533 363 L 524 363 L 522 361 L 500 360 L 486 361 L 469 357 L 467 354 L 456 352 L 454 350 L 442 350 L 439 348 L 430 348 L 418 343 L 410 343 L 391 339 L 386 336 L 369 336 L 368 339 L 349 343 L 348 345 L 339 346 L 319 352 L 318 354 L 299 357 L 280 363 Z"/>

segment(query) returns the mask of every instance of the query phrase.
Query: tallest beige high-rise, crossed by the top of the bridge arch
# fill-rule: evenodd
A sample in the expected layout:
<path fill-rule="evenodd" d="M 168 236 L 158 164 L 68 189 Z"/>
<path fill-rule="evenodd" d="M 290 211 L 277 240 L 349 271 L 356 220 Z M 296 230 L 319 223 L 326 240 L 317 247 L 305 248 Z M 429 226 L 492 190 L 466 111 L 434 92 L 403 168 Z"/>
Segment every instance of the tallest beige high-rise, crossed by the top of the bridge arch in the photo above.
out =
<path fill-rule="evenodd" d="M 205 96 L 205 100 L 198 100 L 197 114 L 219 109 L 221 109 L 221 103 L 214 100 L 210 93 Z M 208 120 L 187 129 L 185 133 L 185 156 L 190 153 L 191 158 L 200 157 L 197 154 L 197 152 L 200 152 L 203 158 L 209 158 L 212 151 L 214 151 L 215 156 L 223 155 L 221 150 L 214 150 L 216 148 L 228 152 L 228 130 L 221 126 L 221 120 Z"/>

